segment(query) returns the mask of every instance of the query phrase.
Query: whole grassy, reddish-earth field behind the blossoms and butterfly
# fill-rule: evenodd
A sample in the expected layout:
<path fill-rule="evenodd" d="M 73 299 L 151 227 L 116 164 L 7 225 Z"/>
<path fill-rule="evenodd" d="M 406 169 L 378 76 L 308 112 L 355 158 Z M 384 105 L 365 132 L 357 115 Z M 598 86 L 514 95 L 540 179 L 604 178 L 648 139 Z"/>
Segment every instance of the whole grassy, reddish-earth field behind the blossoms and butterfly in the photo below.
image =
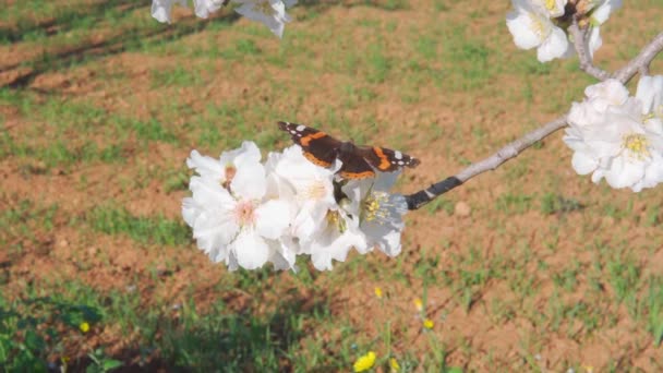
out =
<path fill-rule="evenodd" d="M 193 148 L 266 154 L 290 145 L 276 121 L 305 123 L 421 158 L 409 193 L 595 83 L 517 50 L 508 1 L 300 2 L 282 39 L 231 8 L 167 25 L 148 1 L 3 5 L 0 366 L 327 372 L 374 351 L 381 372 L 662 371 L 661 188 L 577 176 L 562 132 L 411 212 L 395 258 L 230 273 L 196 249 Z M 662 17 L 625 2 L 595 62 L 622 67 Z"/>

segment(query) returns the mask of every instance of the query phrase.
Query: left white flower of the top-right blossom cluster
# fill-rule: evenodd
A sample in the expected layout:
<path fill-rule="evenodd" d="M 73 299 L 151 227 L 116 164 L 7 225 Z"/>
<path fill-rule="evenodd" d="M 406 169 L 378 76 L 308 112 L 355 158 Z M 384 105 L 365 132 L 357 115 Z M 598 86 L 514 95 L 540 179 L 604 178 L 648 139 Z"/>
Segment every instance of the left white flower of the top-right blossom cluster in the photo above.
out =
<path fill-rule="evenodd" d="M 545 7 L 528 0 L 511 2 L 515 10 L 507 14 L 506 25 L 518 48 L 537 48 L 537 57 L 541 62 L 572 53 L 566 33 L 553 24 Z"/>

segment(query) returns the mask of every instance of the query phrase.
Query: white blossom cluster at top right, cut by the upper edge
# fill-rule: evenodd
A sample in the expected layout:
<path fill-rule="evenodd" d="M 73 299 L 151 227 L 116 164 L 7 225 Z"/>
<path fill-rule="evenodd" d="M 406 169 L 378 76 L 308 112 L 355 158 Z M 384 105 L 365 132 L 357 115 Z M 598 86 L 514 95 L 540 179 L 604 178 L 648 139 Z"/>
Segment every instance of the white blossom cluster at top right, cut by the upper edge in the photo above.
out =
<path fill-rule="evenodd" d="M 600 26 L 610 14 L 622 7 L 622 0 L 511 0 L 514 10 L 506 16 L 506 25 L 520 49 L 537 48 L 541 62 L 575 55 L 567 33 L 571 17 L 588 27 L 587 47 L 590 57 L 602 45 Z M 582 41 L 583 43 L 583 41 Z"/>

